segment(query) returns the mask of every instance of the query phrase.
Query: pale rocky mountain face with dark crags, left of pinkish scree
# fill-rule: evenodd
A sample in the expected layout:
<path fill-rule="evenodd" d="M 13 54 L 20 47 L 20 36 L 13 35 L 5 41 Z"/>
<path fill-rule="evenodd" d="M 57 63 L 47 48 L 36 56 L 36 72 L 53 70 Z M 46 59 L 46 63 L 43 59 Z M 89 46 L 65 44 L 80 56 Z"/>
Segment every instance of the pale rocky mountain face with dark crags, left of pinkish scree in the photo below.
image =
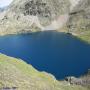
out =
<path fill-rule="evenodd" d="M 44 30 L 69 10 L 69 0 L 14 0 L 0 20 L 0 32 L 30 32 L 35 27 Z"/>

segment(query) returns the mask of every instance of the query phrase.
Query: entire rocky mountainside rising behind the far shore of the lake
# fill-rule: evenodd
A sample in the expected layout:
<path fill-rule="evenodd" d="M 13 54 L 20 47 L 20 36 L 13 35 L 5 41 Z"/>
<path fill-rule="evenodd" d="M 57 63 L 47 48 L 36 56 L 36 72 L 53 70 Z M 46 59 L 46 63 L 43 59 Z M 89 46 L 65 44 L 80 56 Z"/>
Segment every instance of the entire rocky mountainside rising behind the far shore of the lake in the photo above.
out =
<path fill-rule="evenodd" d="M 0 35 L 59 30 L 83 37 L 89 29 L 90 0 L 14 0 L 0 14 Z"/>

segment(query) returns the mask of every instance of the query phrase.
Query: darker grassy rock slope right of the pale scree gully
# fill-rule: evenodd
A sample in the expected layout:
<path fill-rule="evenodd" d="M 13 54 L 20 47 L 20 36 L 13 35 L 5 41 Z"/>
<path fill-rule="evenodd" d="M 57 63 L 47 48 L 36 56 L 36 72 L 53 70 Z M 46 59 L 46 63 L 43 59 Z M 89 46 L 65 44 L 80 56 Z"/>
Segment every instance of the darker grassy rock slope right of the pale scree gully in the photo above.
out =
<path fill-rule="evenodd" d="M 69 13 L 69 32 L 84 34 L 90 30 L 90 0 L 81 0 Z"/>

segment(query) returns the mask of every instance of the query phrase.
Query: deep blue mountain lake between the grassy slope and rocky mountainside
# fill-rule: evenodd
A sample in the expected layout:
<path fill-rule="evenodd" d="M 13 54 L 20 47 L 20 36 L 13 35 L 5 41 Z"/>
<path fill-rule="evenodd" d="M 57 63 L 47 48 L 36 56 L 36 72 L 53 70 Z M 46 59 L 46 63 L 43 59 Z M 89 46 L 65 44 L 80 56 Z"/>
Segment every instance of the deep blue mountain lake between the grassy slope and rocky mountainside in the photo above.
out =
<path fill-rule="evenodd" d="M 0 37 L 0 52 L 21 58 L 57 79 L 80 76 L 90 68 L 90 45 L 54 31 Z"/>

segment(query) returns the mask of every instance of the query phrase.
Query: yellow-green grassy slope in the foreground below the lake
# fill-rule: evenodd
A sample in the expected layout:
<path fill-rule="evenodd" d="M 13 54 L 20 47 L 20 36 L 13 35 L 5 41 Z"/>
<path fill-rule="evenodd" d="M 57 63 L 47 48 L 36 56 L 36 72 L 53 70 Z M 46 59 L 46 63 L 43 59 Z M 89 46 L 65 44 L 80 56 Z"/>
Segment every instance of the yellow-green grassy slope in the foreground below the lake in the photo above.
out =
<path fill-rule="evenodd" d="M 73 84 L 69 81 L 57 81 L 51 74 L 37 71 L 20 59 L 0 54 L 0 90 L 90 90 L 85 84 L 76 84 L 79 79 L 73 78 Z"/>

